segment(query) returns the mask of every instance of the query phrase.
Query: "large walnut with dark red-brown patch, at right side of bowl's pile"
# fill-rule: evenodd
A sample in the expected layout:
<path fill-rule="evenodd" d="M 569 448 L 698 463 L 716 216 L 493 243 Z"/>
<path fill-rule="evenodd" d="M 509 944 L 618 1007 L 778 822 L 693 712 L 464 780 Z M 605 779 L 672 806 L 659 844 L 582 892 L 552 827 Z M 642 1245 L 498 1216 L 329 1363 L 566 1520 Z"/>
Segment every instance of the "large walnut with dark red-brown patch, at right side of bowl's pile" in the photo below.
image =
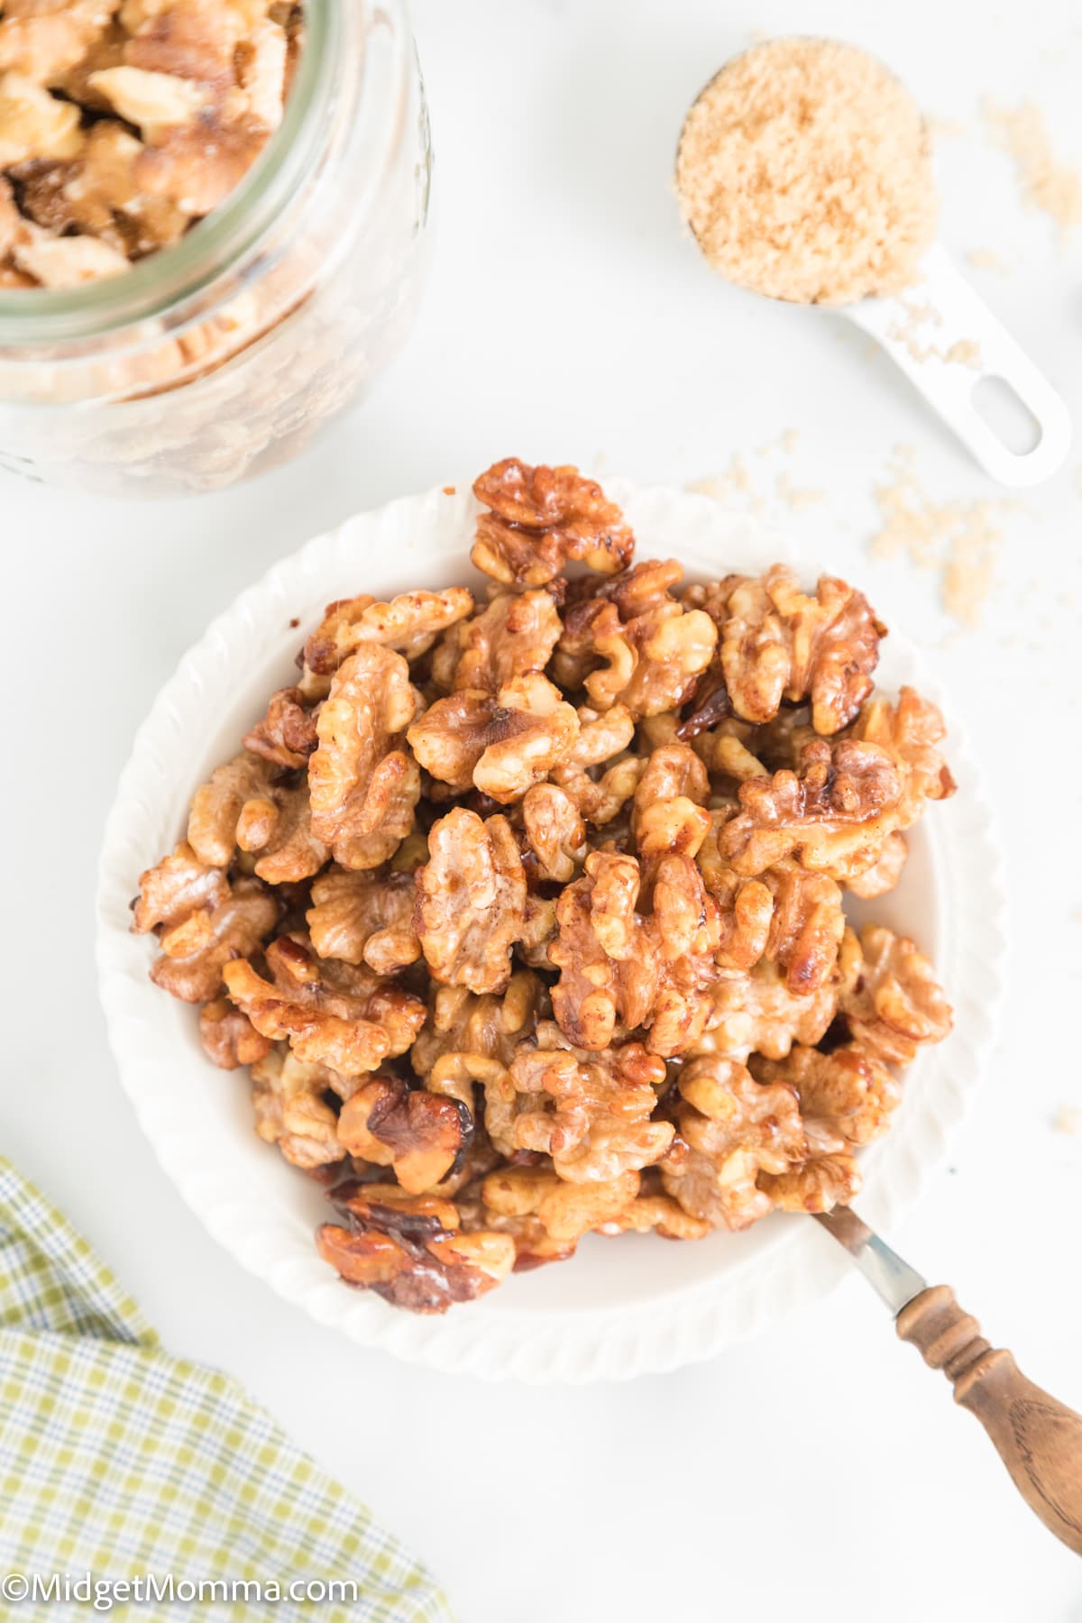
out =
<path fill-rule="evenodd" d="M 740 786 L 740 813 L 719 847 L 749 878 L 795 857 L 847 883 L 882 855 L 902 815 L 902 773 L 886 750 L 852 738 L 805 745 L 798 773 Z"/>

